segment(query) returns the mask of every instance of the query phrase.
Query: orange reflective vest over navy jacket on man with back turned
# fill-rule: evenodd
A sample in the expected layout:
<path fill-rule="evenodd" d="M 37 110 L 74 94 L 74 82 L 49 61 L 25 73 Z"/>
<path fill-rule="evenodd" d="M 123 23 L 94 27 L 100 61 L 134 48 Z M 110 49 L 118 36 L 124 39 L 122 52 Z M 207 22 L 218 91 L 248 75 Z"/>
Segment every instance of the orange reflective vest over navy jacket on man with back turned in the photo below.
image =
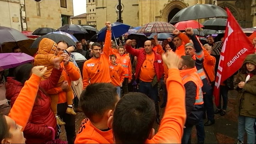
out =
<path fill-rule="evenodd" d="M 194 105 L 203 104 L 203 91 L 202 91 L 203 84 L 200 79 L 200 76 L 196 72 L 193 72 L 182 77 L 183 85 L 189 81 L 194 82 L 197 86 L 197 95 L 196 95 L 196 101 Z"/>

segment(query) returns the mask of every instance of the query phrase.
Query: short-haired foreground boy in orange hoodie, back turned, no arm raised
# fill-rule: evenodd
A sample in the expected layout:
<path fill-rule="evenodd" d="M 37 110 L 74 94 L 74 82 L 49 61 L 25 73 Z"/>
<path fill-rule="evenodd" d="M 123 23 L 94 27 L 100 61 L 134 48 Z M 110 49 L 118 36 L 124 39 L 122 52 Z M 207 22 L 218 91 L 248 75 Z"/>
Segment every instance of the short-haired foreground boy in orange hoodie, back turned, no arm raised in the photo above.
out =
<path fill-rule="evenodd" d="M 75 143 L 113 143 L 113 132 L 107 122 L 113 116 L 118 101 L 114 85 L 88 85 L 80 96 L 81 109 L 87 118 L 80 125 Z"/>

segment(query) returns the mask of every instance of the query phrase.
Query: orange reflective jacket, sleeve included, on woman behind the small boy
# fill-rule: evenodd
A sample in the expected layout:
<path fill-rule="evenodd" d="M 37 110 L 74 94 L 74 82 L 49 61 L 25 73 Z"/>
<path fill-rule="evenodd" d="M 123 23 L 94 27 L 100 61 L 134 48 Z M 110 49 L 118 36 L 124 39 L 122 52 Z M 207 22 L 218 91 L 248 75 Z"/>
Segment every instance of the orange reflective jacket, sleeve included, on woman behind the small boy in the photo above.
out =
<path fill-rule="evenodd" d="M 120 64 L 125 70 L 125 78 L 132 79 L 131 58 L 128 55 L 116 54 L 116 63 Z"/>

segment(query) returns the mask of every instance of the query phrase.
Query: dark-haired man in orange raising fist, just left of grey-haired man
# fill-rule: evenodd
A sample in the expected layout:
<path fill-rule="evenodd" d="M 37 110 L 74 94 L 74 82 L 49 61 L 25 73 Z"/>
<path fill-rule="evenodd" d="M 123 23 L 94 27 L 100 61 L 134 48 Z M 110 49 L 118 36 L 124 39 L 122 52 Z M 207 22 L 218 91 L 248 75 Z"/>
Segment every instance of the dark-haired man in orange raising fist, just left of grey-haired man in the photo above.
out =
<path fill-rule="evenodd" d="M 185 55 L 185 44 L 189 43 L 189 38 L 178 29 L 173 30 L 173 37 L 174 44 L 176 45 L 175 53 L 179 56 Z"/>

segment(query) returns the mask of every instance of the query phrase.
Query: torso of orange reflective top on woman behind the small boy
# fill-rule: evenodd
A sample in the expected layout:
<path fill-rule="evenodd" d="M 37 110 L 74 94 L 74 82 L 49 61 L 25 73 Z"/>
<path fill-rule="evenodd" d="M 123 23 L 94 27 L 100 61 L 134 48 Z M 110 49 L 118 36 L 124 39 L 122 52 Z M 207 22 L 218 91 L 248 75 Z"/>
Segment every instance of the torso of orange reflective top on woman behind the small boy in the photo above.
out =
<path fill-rule="evenodd" d="M 125 70 L 125 77 L 129 77 L 129 62 L 130 57 L 128 55 L 116 54 L 116 63 L 120 64 Z"/>

